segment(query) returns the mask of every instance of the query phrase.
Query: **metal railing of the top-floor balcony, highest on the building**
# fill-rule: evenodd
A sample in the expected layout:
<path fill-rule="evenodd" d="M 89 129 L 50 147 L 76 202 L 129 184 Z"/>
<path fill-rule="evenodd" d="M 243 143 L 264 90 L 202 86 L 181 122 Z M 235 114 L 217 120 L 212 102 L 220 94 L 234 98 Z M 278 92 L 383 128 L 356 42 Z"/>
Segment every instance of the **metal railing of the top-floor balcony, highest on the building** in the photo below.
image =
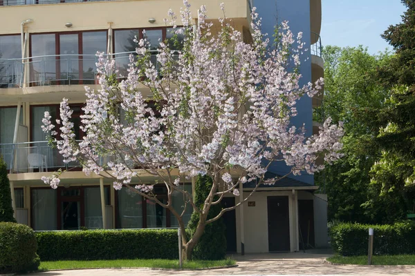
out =
<path fill-rule="evenodd" d="M 111 59 L 116 61 L 117 79 L 127 77 L 131 54 L 137 55 L 136 52 L 111 54 Z M 0 88 L 98 83 L 97 61 L 95 55 L 75 54 L 0 59 Z M 158 69 L 156 51 L 151 61 Z"/>

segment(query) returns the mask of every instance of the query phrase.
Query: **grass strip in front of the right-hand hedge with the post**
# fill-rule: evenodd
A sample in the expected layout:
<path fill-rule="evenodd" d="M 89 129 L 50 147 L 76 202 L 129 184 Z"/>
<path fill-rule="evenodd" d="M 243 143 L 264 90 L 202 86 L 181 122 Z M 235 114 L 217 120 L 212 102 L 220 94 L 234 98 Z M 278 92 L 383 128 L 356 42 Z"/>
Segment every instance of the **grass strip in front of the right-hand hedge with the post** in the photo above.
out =
<path fill-rule="evenodd" d="M 333 256 L 327 261 L 335 264 L 367 264 L 367 256 Z M 372 264 L 380 266 L 415 265 L 415 255 L 387 255 L 372 257 Z"/>

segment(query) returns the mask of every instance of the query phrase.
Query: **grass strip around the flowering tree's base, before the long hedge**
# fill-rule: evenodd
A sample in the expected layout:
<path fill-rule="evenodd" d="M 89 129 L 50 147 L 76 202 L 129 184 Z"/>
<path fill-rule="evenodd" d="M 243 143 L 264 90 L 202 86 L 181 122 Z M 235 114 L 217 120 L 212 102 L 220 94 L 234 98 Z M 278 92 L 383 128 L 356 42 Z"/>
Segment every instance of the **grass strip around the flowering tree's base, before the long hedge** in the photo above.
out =
<path fill-rule="evenodd" d="M 220 261 L 190 261 L 183 262 L 183 268 L 211 268 L 215 266 L 230 266 L 236 264 L 233 259 Z M 71 268 L 178 268 L 176 259 L 111 259 L 100 261 L 56 261 L 41 262 L 39 270 L 71 269 Z"/>

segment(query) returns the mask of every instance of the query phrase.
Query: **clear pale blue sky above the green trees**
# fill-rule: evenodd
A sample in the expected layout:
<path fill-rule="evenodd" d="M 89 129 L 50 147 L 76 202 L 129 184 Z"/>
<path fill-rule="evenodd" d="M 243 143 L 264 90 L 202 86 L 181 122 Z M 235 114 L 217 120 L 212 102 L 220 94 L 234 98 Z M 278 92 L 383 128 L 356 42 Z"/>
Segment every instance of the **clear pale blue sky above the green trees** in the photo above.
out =
<path fill-rule="evenodd" d="M 323 45 L 367 46 L 371 54 L 389 44 L 380 37 L 400 23 L 405 6 L 400 0 L 322 0 Z"/>

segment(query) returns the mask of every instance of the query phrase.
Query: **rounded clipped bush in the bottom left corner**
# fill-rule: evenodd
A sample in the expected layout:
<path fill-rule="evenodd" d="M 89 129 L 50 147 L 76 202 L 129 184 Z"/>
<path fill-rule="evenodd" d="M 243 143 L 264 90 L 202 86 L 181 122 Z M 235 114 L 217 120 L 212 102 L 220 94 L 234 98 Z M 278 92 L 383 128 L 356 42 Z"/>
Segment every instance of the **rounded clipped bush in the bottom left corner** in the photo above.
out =
<path fill-rule="evenodd" d="M 32 228 L 0 222 L 0 274 L 37 270 L 40 259 Z"/>

